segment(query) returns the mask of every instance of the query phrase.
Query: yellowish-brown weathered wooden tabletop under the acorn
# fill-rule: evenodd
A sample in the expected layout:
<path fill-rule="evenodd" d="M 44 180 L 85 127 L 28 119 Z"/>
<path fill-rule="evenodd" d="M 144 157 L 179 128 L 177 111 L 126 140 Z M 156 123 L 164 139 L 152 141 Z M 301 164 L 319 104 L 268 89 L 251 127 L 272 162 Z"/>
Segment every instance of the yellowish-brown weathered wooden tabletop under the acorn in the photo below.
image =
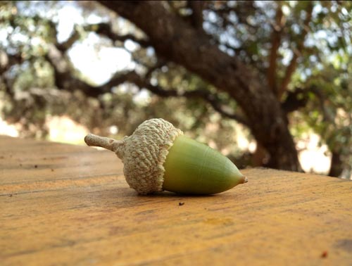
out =
<path fill-rule="evenodd" d="M 352 182 L 243 172 L 137 196 L 114 153 L 0 137 L 0 265 L 352 265 Z"/>

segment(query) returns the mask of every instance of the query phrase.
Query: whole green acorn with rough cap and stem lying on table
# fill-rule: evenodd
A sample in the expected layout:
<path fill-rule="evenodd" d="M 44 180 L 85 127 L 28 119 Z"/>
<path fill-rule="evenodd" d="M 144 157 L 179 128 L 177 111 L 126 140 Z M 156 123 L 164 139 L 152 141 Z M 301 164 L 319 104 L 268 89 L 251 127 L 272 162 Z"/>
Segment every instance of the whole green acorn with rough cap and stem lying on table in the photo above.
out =
<path fill-rule="evenodd" d="M 84 141 L 115 152 L 127 183 L 139 194 L 217 194 L 247 182 L 229 158 L 160 118 L 142 122 L 122 140 L 88 134 Z"/>

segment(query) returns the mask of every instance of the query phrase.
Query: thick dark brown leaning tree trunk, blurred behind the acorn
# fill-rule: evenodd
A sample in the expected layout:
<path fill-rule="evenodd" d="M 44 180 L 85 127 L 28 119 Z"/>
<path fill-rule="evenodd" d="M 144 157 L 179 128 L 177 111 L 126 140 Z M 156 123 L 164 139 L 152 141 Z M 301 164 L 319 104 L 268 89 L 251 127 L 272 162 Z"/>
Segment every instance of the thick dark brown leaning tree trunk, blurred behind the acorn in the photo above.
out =
<path fill-rule="evenodd" d="M 158 55 L 226 91 L 246 114 L 251 133 L 270 154 L 268 166 L 301 170 L 284 112 L 256 71 L 211 44 L 207 35 L 160 1 L 100 1 L 137 25 Z"/>

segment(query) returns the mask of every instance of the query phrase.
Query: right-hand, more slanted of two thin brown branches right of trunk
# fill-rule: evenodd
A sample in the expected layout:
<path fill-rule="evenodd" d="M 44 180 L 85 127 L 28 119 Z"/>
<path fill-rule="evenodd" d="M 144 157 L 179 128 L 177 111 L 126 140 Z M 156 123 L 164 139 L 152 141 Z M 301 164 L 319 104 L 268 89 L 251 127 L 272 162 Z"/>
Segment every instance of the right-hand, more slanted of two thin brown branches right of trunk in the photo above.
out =
<path fill-rule="evenodd" d="M 306 35 L 308 33 L 309 29 L 309 23 L 310 20 L 312 19 L 312 11 L 313 11 L 313 4 L 312 2 L 309 3 L 308 9 L 307 9 L 307 16 L 306 19 L 304 20 L 303 23 L 303 33 L 301 35 L 301 40 L 297 44 L 297 48 L 294 49 L 294 56 L 292 57 L 289 66 L 286 69 L 284 79 L 282 80 L 281 87 L 279 88 L 277 97 L 278 99 L 281 99 L 282 94 L 287 90 L 287 86 L 289 82 L 291 81 L 291 77 L 294 74 L 294 71 L 296 70 L 297 67 L 297 59 L 299 56 L 301 56 L 303 48 L 304 48 L 304 40 L 306 39 Z"/>

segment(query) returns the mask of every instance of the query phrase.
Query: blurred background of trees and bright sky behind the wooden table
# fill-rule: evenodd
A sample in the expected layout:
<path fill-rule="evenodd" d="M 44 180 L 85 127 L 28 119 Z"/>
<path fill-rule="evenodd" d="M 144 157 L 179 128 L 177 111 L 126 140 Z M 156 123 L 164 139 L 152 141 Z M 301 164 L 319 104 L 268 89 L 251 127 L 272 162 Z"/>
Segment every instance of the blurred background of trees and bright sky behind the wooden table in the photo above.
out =
<path fill-rule="evenodd" d="M 351 1 L 1 1 L 0 134 L 164 118 L 239 167 L 351 178 L 351 32 Z"/>

